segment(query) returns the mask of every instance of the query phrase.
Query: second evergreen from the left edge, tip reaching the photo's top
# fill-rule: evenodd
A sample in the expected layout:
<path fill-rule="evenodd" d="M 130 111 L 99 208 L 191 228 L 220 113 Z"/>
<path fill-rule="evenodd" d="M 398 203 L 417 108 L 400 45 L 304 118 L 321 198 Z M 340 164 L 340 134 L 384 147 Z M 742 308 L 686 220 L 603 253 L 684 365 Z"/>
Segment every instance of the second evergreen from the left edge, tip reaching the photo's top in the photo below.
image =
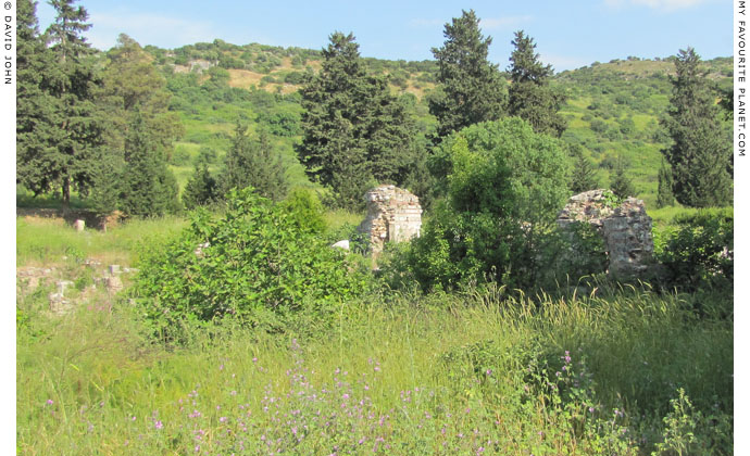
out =
<path fill-rule="evenodd" d="M 49 60 L 38 80 L 47 104 L 34 106 L 37 117 L 33 123 L 39 128 L 39 135 L 35 139 L 28 136 L 22 139 L 17 153 L 17 161 L 24 163 L 17 170 L 18 180 L 35 193 L 60 186 L 64 210 L 73 188 L 86 193 L 91 186 L 104 125 L 93 102 L 101 79 L 95 69 L 93 50 L 83 37 L 90 27 L 86 23 L 88 13 L 73 2 L 50 1 L 57 17 L 43 36 L 48 51 L 42 55 Z M 28 114 L 28 111 L 23 113 Z M 28 147 L 29 139 L 32 147 Z M 34 170 L 27 163 L 42 170 Z"/>

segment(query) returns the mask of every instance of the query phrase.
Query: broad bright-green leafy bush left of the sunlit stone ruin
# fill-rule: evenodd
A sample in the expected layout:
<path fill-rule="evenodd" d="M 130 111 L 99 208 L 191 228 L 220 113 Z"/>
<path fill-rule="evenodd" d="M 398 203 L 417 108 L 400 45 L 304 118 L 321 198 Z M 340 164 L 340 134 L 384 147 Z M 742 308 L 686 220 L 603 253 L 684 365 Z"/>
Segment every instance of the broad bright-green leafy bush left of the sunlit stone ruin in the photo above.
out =
<path fill-rule="evenodd" d="M 224 317 L 283 331 L 300 312 L 328 318 L 361 293 L 365 277 L 252 189 L 229 193 L 218 219 L 199 211 L 182 236 L 143 252 L 133 293 L 154 334 Z"/>

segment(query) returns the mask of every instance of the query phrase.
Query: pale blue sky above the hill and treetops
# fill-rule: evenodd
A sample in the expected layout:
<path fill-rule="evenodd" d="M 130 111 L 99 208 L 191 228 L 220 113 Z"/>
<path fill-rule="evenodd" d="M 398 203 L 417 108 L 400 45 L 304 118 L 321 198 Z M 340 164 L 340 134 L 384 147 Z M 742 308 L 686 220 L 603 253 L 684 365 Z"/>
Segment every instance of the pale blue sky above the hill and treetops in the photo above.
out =
<path fill-rule="evenodd" d="M 177 48 L 221 38 L 321 49 L 335 30 L 352 31 L 363 56 L 433 59 L 443 24 L 474 9 L 489 60 L 508 66 L 513 31 L 524 29 L 555 71 L 628 55 L 668 56 L 687 46 L 703 59 L 732 55 L 732 2 L 727 0 L 488 1 L 195 1 L 84 0 L 93 27 L 89 41 L 109 49 L 120 33 L 141 45 Z M 37 10 L 41 28 L 53 20 L 46 1 Z"/>

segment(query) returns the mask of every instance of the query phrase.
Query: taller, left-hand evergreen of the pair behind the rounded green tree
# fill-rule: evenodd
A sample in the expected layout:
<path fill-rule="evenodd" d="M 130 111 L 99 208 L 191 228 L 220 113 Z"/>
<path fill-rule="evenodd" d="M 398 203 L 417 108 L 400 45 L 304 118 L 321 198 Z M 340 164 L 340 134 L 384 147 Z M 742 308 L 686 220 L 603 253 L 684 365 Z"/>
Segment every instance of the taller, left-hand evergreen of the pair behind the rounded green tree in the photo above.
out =
<path fill-rule="evenodd" d="M 462 11 L 445 27 L 443 46 L 433 48 L 439 67 L 438 91 L 428 100 L 438 121 L 435 143 L 470 125 L 500 118 L 507 102 L 498 65 L 487 60 L 492 38 L 482 35 L 474 10 Z"/>

